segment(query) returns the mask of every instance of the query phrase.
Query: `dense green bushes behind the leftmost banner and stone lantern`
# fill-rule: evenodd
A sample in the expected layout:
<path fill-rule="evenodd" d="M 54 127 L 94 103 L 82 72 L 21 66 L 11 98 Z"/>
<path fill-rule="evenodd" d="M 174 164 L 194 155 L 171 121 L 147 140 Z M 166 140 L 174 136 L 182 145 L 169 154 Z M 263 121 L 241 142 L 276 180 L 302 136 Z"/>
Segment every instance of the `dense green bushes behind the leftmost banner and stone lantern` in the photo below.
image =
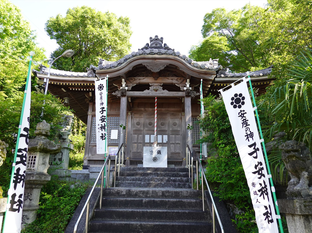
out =
<path fill-rule="evenodd" d="M 44 104 L 45 101 L 45 104 Z M 6 194 L 10 182 L 14 149 L 17 140 L 18 125 L 20 122 L 23 103 L 23 92 L 13 93 L 12 97 L 0 101 L 0 140 L 5 141 L 7 148 L 7 158 L 0 167 L 0 184 Z M 61 100 L 51 94 L 44 95 L 42 92 L 32 91 L 30 107 L 30 127 L 29 137 L 34 138 L 34 131 L 37 123 L 46 120 L 51 124 L 50 139 L 55 138 L 60 122 L 63 121 L 64 114 L 70 114 L 68 107 L 61 104 Z"/>

